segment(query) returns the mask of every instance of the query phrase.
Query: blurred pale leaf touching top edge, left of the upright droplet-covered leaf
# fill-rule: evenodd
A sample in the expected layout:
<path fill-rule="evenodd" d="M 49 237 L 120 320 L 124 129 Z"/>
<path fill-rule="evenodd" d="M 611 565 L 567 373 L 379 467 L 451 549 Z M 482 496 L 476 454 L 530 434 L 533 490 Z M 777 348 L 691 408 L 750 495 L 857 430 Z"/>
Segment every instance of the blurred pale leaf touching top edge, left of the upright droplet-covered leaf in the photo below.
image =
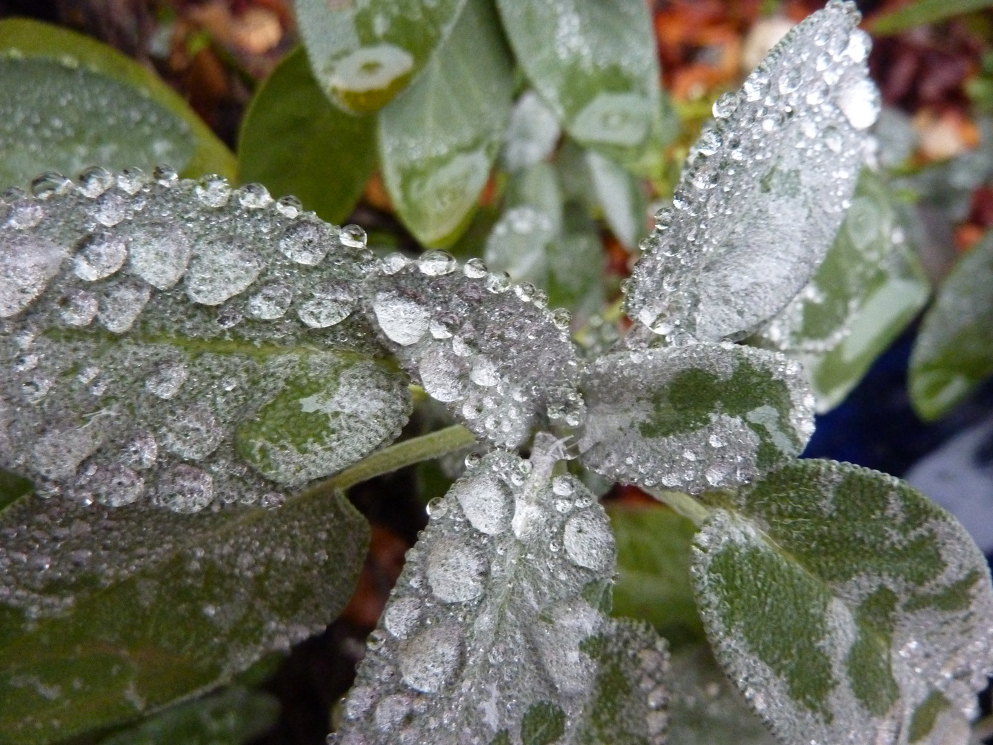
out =
<path fill-rule="evenodd" d="M 569 134 L 638 176 L 658 178 L 673 132 L 644 3 L 497 6 L 517 61 Z"/>

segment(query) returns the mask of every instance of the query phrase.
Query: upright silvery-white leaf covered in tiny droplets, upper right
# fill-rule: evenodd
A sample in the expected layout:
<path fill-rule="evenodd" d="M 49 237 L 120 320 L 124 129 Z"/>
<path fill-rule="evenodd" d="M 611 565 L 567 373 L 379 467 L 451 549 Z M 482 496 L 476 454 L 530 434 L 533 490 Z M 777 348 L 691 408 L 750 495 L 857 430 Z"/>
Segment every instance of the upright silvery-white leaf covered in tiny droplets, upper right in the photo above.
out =
<path fill-rule="evenodd" d="M 691 150 L 628 295 L 669 341 L 739 338 L 806 284 L 844 217 L 879 113 L 868 35 L 832 0 L 794 27 Z"/>

